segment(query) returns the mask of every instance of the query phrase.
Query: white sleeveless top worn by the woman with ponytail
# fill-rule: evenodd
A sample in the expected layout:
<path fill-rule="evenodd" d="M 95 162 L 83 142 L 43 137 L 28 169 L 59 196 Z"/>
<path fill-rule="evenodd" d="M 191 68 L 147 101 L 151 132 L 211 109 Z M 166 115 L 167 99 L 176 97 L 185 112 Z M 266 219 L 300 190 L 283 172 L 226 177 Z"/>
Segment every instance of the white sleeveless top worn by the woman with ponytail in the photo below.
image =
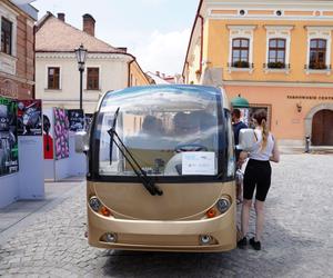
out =
<path fill-rule="evenodd" d="M 270 160 L 270 157 L 272 157 L 273 155 L 274 148 L 274 139 L 272 133 L 269 133 L 266 147 L 262 149 L 262 130 L 256 128 L 254 129 L 254 132 L 256 135 L 258 141 L 254 143 L 252 150 L 250 151 L 249 158 L 261 161 Z"/>

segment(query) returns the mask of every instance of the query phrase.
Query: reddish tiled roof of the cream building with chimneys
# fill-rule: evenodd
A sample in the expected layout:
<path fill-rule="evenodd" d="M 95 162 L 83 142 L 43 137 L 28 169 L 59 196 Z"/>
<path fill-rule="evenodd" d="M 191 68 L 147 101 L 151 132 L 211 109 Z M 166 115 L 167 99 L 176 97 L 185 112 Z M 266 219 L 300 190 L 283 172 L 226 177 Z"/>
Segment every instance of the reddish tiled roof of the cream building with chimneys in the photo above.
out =
<path fill-rule="evenodd" d="M 124 52 L 48 13 L 37 24 L 36 52 L 73 51 L 83 43 L 89 52 Z"/>

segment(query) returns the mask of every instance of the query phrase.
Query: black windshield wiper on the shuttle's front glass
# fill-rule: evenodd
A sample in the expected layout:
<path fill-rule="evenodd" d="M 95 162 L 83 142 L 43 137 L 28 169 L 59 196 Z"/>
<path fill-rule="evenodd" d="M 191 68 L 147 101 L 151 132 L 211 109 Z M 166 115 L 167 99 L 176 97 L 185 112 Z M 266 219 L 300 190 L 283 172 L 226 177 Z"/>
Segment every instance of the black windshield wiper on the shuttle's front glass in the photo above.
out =
<path fill-rule="evenodd" d="M 113 143 L 117 146 L 117 148 L 120 150 L 122 156 L 125 158 L 125 160 L 129 162 L 138 178 L 140 179 L 141 183 L 144 186 L 144 188 L 152 195 L 152 196 L 161 196 L 163 195 L 163 191 L 153 182 L 151 178 L 149 178 L 145 173 L 145 171 L 142 169 L 142 167 L 139 165 L 139 162 L 134 159 L 131 151 L 127 148 L 127 146 L 123 143 L 123 141 L 120 139 L 119 135 L 115 131 L 117 126 L 117 118 L 119 115 L 119 109 L 117 109 L 113 118 L 113 123 L 110 130 L 108 130 L 108 133 L 110 136 L 110 165 L 112 163 L 112 146 Z M 117 140 L 115 140 L 117 139 Z"/>

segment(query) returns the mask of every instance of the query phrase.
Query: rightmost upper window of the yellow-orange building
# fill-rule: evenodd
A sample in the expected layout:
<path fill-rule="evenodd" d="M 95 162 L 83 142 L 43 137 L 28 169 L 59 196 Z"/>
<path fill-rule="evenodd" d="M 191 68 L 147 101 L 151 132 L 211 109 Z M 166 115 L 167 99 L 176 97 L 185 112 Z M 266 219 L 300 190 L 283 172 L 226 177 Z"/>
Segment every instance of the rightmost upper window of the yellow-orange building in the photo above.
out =
<path fill-rule="evenodd" d="M 326 69 L 326 40 L 312 39 L 310 41 L 310 69 Z"/>

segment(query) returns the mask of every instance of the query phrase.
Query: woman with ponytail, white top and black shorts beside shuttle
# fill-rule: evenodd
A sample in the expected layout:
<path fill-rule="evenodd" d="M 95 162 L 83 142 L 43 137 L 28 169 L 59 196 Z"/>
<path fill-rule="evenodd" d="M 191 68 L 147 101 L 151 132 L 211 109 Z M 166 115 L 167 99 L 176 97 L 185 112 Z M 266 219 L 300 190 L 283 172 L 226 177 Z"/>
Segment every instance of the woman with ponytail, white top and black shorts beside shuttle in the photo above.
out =
<path fill-rule="evenodd" d="M 250 245 L 255 250 L 261 249 L 261 237 L 264 221 L 264 201 L 271 186 L 272 169 L 270 161 L 280 161 L 278 145 L 273 135 L 268 129 L 266 121 L 268 115 L 265 110 L 258 110 L 253 115 L 256 142 L 249 153 L 243 151 L 240 156 L 240 160 L 245 160 L 246 157 L 250 158 L 244 173 L 243 206 L 241 214 L 242 239 L 238 242 L 240 248 L 248 245 L 246 234 L 249 231 L 250 209 L 255 189 L 255 237 L 250 239 Z"/>

